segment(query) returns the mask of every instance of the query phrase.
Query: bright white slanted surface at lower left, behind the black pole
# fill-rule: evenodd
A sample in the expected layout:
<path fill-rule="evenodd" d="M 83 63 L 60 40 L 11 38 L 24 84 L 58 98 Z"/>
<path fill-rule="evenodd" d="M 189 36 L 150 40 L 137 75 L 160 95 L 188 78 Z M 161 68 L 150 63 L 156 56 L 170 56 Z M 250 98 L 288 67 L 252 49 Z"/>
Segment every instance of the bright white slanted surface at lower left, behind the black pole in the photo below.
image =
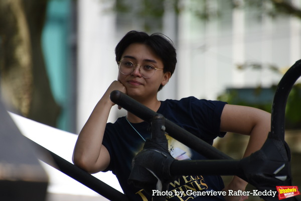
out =
<path fill-rule="evenodd" d="M 10 113 L 21 133 L 53 153 L 72 163 L 72 152 L 77 135 L 46 126 Z M 59 170 L 41 162 L 49 176 L 48 192 L 100 196 Z M 99 172 L 93 176 L 122 192 L 116 177 L 111 172 Z"/>

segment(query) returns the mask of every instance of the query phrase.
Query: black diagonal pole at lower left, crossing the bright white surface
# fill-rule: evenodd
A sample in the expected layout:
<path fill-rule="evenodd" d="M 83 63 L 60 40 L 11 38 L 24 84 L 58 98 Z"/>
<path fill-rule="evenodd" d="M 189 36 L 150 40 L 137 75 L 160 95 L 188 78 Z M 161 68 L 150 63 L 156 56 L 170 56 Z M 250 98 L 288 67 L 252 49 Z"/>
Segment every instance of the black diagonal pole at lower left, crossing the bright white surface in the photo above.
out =
<path fill-rule="evenodd" d="M 28 138 L 27 138 L 28 139 Z M 36 149 L 38 157 L 43 162 L 47 163 L 48 165 L 58 169 L 59 171 L 63 172 L 64 174 L 70 176 L 71 178 L 77 180 L 78 182 L 82 183 L 83 185 L 89 187 L 90 189 L 94 190 L 95 192 L 99 193 L 100 195 L 106 197 L 112 201 L 120 201 L 125 200 L 128 201 L 128 198 L 123 193 L 119 192 L 115 188 L 109 186 L 108 184 L 104 183 L 103 181 L 99 180 L 95 176 L 89 174 L 88 172 L 80 169 L 76 165 L 70 163 L 69 161 L 61 158 L 60 156 L 56 155 L 55 153 L 49 151 L 45 147 L 37 144 L 36 142 L 28 139 L 30 143 Z"/>

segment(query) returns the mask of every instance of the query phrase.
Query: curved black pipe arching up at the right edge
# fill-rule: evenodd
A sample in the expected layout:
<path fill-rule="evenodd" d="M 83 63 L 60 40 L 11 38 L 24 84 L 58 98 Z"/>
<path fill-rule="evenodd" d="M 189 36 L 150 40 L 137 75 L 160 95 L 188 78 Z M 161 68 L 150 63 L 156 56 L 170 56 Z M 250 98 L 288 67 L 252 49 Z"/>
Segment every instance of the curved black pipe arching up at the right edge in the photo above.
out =
<path fill-rule="evenodd" d="M 301 60 L 292 65 L 283 75 L 278 83 L 271 111 L 271 133 L 270 137 L 284 141 L 285 129 L 285 106 L 288 94 L 295 83 L 301 76 Z M 300 111 L 301 112 L 301 111 Z"/>

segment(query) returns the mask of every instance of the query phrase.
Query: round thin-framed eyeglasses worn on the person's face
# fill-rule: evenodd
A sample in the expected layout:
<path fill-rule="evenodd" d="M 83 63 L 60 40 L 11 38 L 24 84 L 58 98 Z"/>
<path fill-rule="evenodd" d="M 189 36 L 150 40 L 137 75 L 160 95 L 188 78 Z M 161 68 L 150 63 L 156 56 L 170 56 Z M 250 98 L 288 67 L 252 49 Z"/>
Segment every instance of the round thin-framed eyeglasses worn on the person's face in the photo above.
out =
<path fill-rule="evenodd" d="M 153 64 L 145 63 L 138 65 L 129 60 L 121 60 L 118 64 L 119 71 L 124 75 L 129 75 L 135 70 L 135 66 L 139 66 L 140 74 L 146 79 L 153 77 L 156 70 L 163 70 L 163 68 L 156 68 Z"/>

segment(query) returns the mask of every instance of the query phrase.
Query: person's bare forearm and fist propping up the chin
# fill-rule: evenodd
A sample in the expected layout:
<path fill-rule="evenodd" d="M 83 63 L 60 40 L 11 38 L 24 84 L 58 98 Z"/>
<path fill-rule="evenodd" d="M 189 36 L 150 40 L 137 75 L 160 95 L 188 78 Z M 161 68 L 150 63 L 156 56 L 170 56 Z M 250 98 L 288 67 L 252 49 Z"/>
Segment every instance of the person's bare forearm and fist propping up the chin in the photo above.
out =
<path fill-rule="evenodd" d="M 74 164 L 89 173 L 102 171 L 110 163 L 109 152 L 102 145 L 102 140 L 110 110 L 114 105 L 109 97 L 113 90 L 126 93 L 125 87 L 119 81 L 111 83 L 79 133 L 74 147 Z"/>

